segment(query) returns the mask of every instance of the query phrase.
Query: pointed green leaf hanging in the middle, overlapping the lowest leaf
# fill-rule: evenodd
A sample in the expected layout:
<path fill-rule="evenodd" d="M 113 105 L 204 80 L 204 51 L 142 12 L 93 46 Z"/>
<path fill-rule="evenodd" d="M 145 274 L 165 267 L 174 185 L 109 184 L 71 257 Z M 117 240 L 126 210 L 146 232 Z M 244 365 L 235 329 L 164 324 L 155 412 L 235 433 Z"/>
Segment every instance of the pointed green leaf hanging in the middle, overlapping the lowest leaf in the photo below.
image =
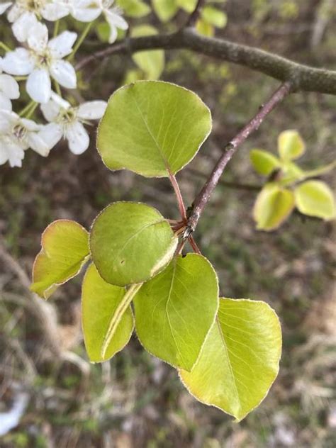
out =
<path fill-rule="evenodd" d="M 140 342 L 156 357 L 191 370 L 218 310 L 218 280 L 201 255 L 177 257 L 134 298 Z"/>

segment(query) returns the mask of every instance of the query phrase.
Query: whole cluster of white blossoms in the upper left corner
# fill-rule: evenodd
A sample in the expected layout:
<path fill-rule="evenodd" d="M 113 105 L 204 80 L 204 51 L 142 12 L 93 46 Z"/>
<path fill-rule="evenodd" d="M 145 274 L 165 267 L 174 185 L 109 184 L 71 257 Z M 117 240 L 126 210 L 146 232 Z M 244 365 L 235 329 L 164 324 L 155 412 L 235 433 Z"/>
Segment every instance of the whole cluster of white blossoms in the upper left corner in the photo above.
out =
<path fill-rule="evenodd" d="M 46 157 L 62 138 L 74 154 L 82 154 L 89 147 L 89 134 L 83 124 L 101 118 L 106 101 L 72 106 L 62 98 L 60 86 L 77 88 L 77 74 L 71 60 L 92 21 L 103 14 L 110 27 L 110 43 L 117 38 L 117 28 L 128 28 L 121 11 L 113 7 L 113 1 L 0 0 L 0 15 L 7 14 L 19 43 L 14 50 L 0 43 L 0 48 L 6 50 L 0 57 L 0 165 L 9 162 L 11 167 L 21 167 L 29 148 Z M 58 21 L 69 14 L 77 21 L 88 22 L 79 37 L 67 30 L 57 33 Z M 43 20 L 54 22 L 52 39 Z M 13 111 L 12 100 L 20 97 L 19 82 L 26 83 L 31 101 L 18 114 Z M 52 82 L 57 94 L 52 90 Z M 37 106 L 47 124 L 30 119 Z"/>

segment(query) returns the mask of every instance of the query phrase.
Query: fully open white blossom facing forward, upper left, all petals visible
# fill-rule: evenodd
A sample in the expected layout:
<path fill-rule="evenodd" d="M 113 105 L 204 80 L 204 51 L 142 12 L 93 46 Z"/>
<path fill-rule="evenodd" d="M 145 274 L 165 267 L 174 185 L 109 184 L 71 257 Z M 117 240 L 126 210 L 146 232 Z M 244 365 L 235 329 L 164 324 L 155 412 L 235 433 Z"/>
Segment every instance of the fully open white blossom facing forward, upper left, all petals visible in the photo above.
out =
<path fill-rule="evenodd" d="M 77 33 L 63 31 L 48 42 L 47 27 L 37 23 L 28 36 L 29 49 L 19 47 L 7 52 L 2 68 L 9 74 L 28 75 L 26 89 L 30 98 L 47 103 L 51 95 L 50 76 L 67 89 L 77 86 L 74 67 L 62 60 L 72 52 L 76 38 Z"/>

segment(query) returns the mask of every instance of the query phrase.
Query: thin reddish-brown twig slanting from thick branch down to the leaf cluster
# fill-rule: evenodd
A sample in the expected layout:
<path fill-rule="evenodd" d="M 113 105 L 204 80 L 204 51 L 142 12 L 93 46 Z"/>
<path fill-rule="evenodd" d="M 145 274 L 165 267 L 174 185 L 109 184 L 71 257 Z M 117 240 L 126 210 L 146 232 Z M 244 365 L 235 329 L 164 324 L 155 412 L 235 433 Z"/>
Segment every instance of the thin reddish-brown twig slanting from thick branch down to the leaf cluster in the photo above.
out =
<path fill-rule="evenodd" d="M 272 94 L 271 98 L 264 103 L 264 105 L 259 109 L 259 112 L 252 118 L 247 125 L 245 125 L 242 130 L 231 140 L 228 145 L 225 146 L 223 155 L 220 156 L 218 162 L 215 164 L 213 171 L 211 172 L 206 184 L 204 184 L 201 191 L 196 196 L 196 199 L 193 203 L 191 211 L 189 213 L 188 223 L 186 225 L 186 230 L 184 235 L 190 235 L 196 229 L 196 225 L 198 223 L 199 218 L 201 217 L 201 213 L 203 212 L 206 203 L 215 189 L 215 186 L 218 184 L 220 176 L 223 174 L 223 171 L 230 162 L 231 157 L 237 150 L 237 147 L 245 142 L 247 137 L 254 131 L 259 128 L 259 126 L 264 121 L 264 118 L 273 111 L 274 107 L 279 104 L 290 92 L 292 89 L 292 84 L 290 82 L 285 82 L 281 84 L 279 89 L 277 89 L 274 94 Z"/>

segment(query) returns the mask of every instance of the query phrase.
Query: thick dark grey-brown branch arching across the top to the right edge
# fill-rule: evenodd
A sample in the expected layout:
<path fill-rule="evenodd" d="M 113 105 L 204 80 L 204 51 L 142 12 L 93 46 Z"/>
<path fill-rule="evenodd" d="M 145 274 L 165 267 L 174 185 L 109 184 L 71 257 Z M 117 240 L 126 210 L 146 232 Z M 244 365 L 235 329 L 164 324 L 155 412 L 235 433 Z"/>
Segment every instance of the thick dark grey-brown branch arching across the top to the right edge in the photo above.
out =
<path fill-rule="evenodd" d="M 229 40 L 207 38 L 199 35 L 192 28 L 184 28 L 172 34 L 150 35 L 123 40 L 105 50 L 84 57 L 78 62 L 76 69 L 82 69 L 91 62 L 111 55 L 127 55 L 139 50 L 158 48 L 163 50 L 178 48 L 192 50 L 203 55 L 216 57 L 219 60 L 249 67 L 281 82 L 290 81 L 293 90 L 336 95 L 336 71 L 308 67 L 259 48 L 240 45 Z"/>

